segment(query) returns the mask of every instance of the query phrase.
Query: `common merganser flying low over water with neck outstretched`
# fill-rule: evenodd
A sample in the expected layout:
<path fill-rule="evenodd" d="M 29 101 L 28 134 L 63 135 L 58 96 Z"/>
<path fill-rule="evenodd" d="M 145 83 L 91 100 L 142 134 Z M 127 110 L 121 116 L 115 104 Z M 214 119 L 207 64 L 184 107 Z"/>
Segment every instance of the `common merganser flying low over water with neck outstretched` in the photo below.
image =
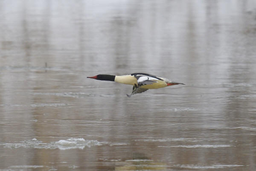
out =
<path fill-rule="evenodd" d="M 126 94 L 128 97 L 131 97 L 136 93 L 143 93 L 148 89 L 156 89 L 156 88 L 163 88 L 163 87 L 177 85 L 177 84 L 183 84 L 183 83 L 170 81 L 167 78 L 162 78 L 162 77 L 158 77 L 151 74 L 145 74 L 145 73 L 133 73 L 133 74 L 121 75 L 121 76 L 99 74 L 99 75 L 95 75 L 93 77 L 87 77 L 87 78 L 93 78 L 96 80 L 103 80 L 103 81 L 116 81 L 122 84 L 133 85 L 131 95 Z"/>

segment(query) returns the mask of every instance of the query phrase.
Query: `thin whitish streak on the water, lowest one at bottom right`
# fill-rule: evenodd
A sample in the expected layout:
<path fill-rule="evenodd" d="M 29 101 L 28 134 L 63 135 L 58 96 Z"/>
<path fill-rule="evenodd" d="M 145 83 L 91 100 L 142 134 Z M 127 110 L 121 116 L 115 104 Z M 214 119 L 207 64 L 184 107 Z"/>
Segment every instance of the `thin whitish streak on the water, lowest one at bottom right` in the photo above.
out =
<path fill-rule="evenodd" d="M 211 168 L 230 168 L 230 167 L 241 167 L 244 165 L 175 165 L 175 167 L 179 168 L 189 168 L 189 169 L 211 169 Z"/>

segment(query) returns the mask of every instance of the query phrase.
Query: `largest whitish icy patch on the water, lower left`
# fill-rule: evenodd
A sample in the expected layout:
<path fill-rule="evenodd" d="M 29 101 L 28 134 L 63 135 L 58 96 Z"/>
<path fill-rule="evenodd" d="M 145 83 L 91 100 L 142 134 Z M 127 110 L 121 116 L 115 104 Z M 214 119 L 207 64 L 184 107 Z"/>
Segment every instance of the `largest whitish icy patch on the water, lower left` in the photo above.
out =
<path fill-rule="evenodd" d="M 60 149 L 68 150 L 73 148 L 84 149 L 85 147 L 92 147 L 102 145 L 97 140 L 85 140 L 83 138 L 69 138 L 66 140 L 59 140 L 57 142 L 44 143 L 38 139 L 17 142 L 17 143 L 2 143 L 4 148 L 44 148 L 44 149 Z"/>

